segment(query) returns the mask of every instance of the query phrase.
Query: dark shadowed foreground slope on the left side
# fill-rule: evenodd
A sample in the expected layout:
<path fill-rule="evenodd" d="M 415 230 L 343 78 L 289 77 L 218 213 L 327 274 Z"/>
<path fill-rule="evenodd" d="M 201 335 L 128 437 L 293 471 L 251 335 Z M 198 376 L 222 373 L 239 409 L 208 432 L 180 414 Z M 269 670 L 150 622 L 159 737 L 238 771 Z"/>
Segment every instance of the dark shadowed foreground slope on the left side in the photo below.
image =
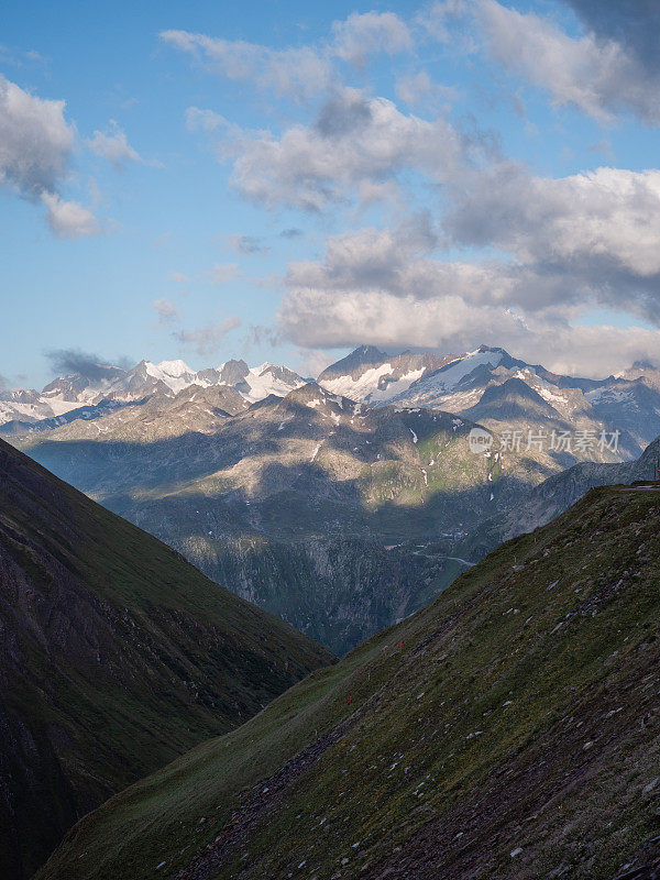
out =
<path fill-rule="evenodd" d="M 0 876 L 331 656 L 0 441 Z"/>

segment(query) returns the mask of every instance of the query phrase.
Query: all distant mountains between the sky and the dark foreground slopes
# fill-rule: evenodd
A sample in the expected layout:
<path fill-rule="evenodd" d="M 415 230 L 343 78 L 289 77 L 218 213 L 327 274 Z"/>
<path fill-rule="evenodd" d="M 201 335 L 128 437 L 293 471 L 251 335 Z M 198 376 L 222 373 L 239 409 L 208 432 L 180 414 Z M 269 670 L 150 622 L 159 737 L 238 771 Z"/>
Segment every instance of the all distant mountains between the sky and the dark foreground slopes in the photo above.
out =
<path fill-rule="evenodd" d="M 316 382 L 243 361 L 91 372 L 6 393 L 0 431 L 339 654 L 525 530 L 544 481 L 632 461 L 660 433 L 650 365 L 575 378 L 483 345 L 361 346 Z"/>

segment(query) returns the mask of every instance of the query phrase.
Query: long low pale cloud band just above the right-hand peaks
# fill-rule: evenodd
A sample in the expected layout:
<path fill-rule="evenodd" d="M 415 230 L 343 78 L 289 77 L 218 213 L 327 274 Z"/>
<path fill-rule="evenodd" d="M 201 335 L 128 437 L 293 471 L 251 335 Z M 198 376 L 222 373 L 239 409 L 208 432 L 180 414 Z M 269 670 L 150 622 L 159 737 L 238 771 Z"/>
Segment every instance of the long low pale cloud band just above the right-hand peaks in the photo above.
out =
<path fill-rule="evenodd" d="M 459 296 L 417 300 L 383 293 L 298 292 L 280 312 L 282 334 L 301 346 L 372 344 L 447 353 L 502 345 L 560 373 L 607 375 L 636 360 L 660 359 L 660 332 L 640 327 L 570 324 L 558 314 L 522 318 L 512 309 L 475 306 Z"/>

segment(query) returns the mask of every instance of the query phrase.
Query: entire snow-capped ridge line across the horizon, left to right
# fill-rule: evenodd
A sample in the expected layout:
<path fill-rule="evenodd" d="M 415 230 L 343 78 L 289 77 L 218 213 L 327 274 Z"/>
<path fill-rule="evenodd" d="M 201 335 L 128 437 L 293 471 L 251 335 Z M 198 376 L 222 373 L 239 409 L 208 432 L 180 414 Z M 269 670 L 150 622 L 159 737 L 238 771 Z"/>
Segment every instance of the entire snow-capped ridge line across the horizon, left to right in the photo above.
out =
<path fill-rule="evenodd" d="M 270 395 L 285 397 L 307 381 L 286 366 L 249 367 L 240 360 L 197 372 L 180 360 L 142 361 L 130 371 L 98 364 L 88 372 L 91 377 L 72 374 L 54 380 L 41 393 L 0 392 L 0 428 L 6 435 L 52 429 L 98 418 L 120 405 L 166 400 L 191 386 L 233 389 L 250 405 Z M 323 370 L 317 382 L 354 403 L 440 408 L 496 431 L 512 416 L 526 415 L 525 400 L 534 398 L 544 405 L 549 421 L 573 430 L 618 430 L 622 459 L 638 455 L 660 433 L 660 370 L 645 363 L 617 376 L 593 380 L 558 375 L 486 345 L 460 355 L 388 355 L 363 345 Z M 498 395 L 519 395 L 522 405 L 498 406 Z M 233 415 L 233 409 L 228 411 Z M 529 427 L 535 424 L 532 419 Z"/>

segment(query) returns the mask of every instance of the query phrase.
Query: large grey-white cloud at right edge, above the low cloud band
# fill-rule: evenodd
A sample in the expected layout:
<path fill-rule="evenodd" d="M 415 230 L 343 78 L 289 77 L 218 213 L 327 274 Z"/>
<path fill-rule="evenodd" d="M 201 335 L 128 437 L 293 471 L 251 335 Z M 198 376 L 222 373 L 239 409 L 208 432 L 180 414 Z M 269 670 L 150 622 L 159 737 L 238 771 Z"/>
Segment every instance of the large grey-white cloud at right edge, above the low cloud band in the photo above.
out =
<path fill-rule="evenodd" d="M 556 297 L 585 295 L 660 321 L 660 172 L 597 168 L 534 177 L 509 163 L 480 176 L 444 224 L 453 241 L 495 245 L 552 278 Z M 526 307 L 543 307 L 530 286 Z"/>

